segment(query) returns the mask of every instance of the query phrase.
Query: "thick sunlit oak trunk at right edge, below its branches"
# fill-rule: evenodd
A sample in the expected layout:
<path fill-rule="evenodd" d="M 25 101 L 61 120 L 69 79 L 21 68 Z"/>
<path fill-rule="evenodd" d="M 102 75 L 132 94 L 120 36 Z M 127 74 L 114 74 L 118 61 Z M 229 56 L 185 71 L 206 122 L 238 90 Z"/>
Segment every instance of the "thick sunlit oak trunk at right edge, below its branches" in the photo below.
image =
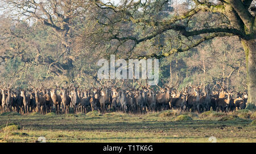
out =
<path fill-rule="evenodd" d="M 242 40 L 243 49 L 246 55 L 247 71 L 247 90 L 248 100 L 247 109 L 253 109 L 256 105 L 256 39 Z"/>

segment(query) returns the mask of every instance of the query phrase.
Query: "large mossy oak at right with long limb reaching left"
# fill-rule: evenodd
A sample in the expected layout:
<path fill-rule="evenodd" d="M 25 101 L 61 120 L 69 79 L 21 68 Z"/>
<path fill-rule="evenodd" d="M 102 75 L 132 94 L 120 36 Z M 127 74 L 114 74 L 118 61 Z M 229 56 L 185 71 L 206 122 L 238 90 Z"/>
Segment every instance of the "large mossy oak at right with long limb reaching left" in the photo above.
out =
<path fill-rule="evenodd" d="M 149 55 L 141 53 L 137 56 L 144 59 L 150 57 L 160 59 L 172 53 L 188 51 L 206 40 L 238 36 L 246 55 L 249 94 L 247 107 L 254 107 L 256 105 L 255 2 L 193 0 L 187 1 L 185 8 L 187 10 L 183 14 L 164 15 L 168 13 L 170 3 L 171 1 L 163 0 L 125 0 L 113 5 L 111 2 L 94 1 L 100 10 L 96 18 L 98 27 L 96 26 L 94 32 L 86 34 L 85 38 L 90 37 L 95 43 L 97 39 L 93 38 L 101 34 L 98 42 L 109 42 L 110 45 L 116 46 L 113 53 L 124 50 L 126 54 L 123 55 L 128 57 L 133 55 L 136 47 L 147 44 L 152 52 Z M 174 32 L 176 36 L 171 35 Z M 174 39 L 177 40 L 176 45 Z M 157 48 L 154 48 L 155 46 Z"/>

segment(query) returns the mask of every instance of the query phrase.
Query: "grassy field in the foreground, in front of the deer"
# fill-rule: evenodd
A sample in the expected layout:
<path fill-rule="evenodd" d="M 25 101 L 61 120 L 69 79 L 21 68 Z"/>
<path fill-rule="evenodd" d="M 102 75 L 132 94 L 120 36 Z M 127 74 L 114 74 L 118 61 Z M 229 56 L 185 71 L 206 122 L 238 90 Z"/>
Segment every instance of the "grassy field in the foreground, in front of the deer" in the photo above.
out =
<path fill-rule="evenodd" d="M 256 142 L 256 112 L 0 115 L 0 142 Z"/>

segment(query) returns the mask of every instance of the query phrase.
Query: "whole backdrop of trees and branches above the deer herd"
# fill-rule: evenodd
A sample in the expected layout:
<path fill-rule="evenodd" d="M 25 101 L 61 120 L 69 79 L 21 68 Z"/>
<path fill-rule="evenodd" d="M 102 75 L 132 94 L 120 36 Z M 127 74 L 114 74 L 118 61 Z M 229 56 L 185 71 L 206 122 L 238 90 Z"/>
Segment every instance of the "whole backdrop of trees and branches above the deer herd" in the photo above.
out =
<path fill-rule="evenodd" d="M 255 1 L 4 0 L 1 10 L 3 77 L 86 85 L 102 57 L 155 58 L 162 82 L 221 80 L 255 104 Z"/>

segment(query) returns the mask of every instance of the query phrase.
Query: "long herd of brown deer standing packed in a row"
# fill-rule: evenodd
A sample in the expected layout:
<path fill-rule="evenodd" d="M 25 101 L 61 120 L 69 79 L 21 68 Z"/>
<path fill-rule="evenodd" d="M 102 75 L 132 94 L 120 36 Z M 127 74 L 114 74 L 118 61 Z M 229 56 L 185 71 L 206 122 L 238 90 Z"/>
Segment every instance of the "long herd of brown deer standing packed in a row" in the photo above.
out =
<path fill-rule="evenodd" d="M 0 100 L 2 100 L 0 113 L 15 111 L 20 114 L 39 112 L 50 113 L 55 109 L 57 114 L 69 113 L 73 108 L 74 113 L 88 113 L 100 111 L 102 114 L 109 111 L 122 111 L 124 113 L 146 113 L 146 111 L 162 111 L 180 109 L 183 111 L 197 111 L 199 113 L 208 110 L 233 111 L 245 109 L 246 92 L 225 91 L 221 86 L 219 90 L 212 90 L 209 86 L 192 86 L 189 84 L 181 91 L 173 86 L 164 85 L 158 88 L 157 93 L 148 84 L 135 80 L 139 89 L 127 86 L 122 90 L 117 86 L 118 81 L 99 82 L 98 87 L 92 85 L 90 90 L 69 86 L 68 88 L 35 88 L 29 84 L 30 90 L 1 85 Z M 217 84 L 219 84 L 217 82 Z M 220 84 L 219 84 L 220 85 Z M 54 107 L 53 107 L 54 106 Z"/>

